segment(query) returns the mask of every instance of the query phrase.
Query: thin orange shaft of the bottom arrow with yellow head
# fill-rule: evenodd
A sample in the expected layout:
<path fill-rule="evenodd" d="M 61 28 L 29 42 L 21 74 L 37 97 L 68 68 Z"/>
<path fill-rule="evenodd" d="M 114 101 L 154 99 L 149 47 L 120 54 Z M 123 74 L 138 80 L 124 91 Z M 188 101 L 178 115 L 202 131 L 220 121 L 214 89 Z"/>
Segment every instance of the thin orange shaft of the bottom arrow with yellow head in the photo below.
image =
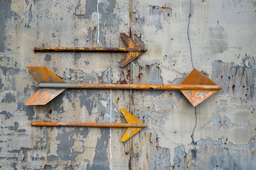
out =
<path fill-rule="evenodd" d="M 145 128 L 144 124 L 81 123 L 81 122 L 31 122 L 31 126 L 100 127 L 100 128 Z"/>

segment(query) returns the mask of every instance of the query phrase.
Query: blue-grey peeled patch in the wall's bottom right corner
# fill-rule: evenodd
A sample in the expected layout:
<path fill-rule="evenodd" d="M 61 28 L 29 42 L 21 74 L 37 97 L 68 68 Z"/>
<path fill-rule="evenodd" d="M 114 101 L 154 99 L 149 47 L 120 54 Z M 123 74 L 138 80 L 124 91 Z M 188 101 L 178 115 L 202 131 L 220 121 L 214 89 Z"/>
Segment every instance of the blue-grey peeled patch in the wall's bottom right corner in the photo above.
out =
<path fill-rule="evenodd" d="M 223 144 L 221 139 L 218 139 L 216 142 L 210 139 L 204 139 L 198 142 L 197 159 L 202 159 L 205 163 L 209 164 L 209 169 L 243 169 L 245 166 L 253 169 L 252 164 L 245 165 L 245 159 L 249 159 L 250 161 L 255 160 L 255 157 L 250 156 L 254 149 L 255 138 L 250 139 L 248 144 L 244 145 Z M 209 153 L 207 159 L 203 158 L 205 152 Z M 203 168 L 203 165 L 199 161 L 196 161 L 195 166 Z"/>

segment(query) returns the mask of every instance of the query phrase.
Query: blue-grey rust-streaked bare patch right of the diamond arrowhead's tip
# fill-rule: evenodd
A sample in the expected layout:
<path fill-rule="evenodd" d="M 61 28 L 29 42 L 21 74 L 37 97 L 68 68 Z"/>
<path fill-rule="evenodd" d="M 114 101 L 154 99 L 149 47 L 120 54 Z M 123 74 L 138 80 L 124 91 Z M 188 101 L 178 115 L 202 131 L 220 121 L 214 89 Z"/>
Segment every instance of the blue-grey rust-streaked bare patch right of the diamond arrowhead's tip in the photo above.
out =
<path fill-rule="evenodd" d="M 245 56 L 241 66 L 235 63 L 223 63 L 220 60 L 213 62 L 212 65 L 215 70 L 213 76 L 218 77 L 216 83 L 222 86 L 222 93 L 239 97 L 242 101 L 249 101 L 249 99 L 255 97 L 253 89 L 256 64 L 252 57 Z"/>

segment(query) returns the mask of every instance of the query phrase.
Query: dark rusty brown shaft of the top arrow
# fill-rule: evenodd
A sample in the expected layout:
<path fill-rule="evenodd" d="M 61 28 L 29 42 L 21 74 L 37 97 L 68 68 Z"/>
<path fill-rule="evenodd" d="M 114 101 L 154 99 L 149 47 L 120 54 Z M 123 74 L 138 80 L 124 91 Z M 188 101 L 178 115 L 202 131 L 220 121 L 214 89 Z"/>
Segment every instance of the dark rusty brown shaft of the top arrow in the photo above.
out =
<path fill-rule="evenodd" d="M 82 51 L 82 52 L 144 52 L 146 49 L 137 47 L 34 47 L 34 51 Z"/>

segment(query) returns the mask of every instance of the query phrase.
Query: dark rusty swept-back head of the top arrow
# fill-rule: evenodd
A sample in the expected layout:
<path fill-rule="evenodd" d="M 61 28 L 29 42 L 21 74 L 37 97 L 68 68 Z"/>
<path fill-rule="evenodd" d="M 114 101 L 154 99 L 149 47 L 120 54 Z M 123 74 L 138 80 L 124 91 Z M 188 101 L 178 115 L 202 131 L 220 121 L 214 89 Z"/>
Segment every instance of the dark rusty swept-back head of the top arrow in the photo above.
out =
<path fill-rule="evenodd" d="M 122 39 L 124 40 L 124 42 L 126 43 L 126 45 L 129 48 L 133 48 L 135 52 L 128 52 L 126 57 L 124 58 L 124 60 L 122 61 L 122 63 L 120 64 L 120 67 L 124 67 L 127 64 L 129 64 L 132 60 L 134 60 L 135 58 L 139 57 L 141 54 L 143 54 L 145 51 L 147 51 L 147 49 L 145 49 L 144 47 L 142 47 L 141 45 L 139 45 L 137 42 L 135 42 L 134 40 L 132 40 L 128 35 L 126 35 L 125 33 L 120 33 Z"/>

